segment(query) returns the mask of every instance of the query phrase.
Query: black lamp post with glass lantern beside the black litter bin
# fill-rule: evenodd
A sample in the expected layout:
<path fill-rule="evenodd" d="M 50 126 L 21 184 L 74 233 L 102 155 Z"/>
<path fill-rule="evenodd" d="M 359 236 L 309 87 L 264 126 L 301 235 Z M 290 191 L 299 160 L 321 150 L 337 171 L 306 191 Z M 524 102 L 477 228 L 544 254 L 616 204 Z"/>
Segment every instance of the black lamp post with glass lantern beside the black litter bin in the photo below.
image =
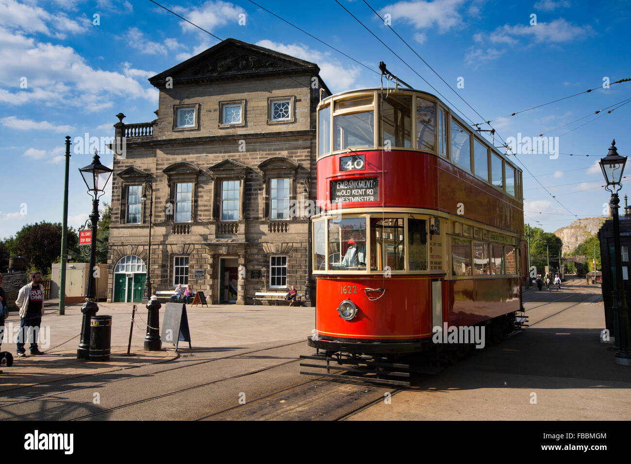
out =
<path fill-rule="evenodd" d="M 94 268 L 97 261 L 97 224 L 98 224 L 98 199 L 105 193 L 105 186 L 110 180 L 112 169 L 104 166 L 100 162 L 97 150 L 94 150 L 94 158 L 91 164 L 82 167 L 79 172 L 83 181 L 88 187 L 88 194 L 92 197 L 92 213 L 90 221 L 92 223 L 92 242 L 90 244 L 90 276 L 88 277 L 88 288 L 85 291 L 85 303 L 81 306 L 83 321 L 81 322 L 81 340 L 77 348 L 77 359 L 90 359 L 90 318 L 97 314 L 98 304 L 96 299 L 96 282 Z"/>

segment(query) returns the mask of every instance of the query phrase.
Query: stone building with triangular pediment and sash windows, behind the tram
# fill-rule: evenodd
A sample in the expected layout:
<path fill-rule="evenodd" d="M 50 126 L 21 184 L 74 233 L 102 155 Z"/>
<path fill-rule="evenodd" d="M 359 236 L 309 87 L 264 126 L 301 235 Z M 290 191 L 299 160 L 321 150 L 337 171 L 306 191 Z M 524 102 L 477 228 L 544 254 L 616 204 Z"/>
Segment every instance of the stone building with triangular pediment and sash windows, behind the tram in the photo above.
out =
<path fill-rule="evenodd" d="M 124 144 L 112 175 L 109 300 L 141 300 L 146 265 L 153 292 L 188 283 L 209 304 L 314 289 L 309 220 L 290 206 L 315 199 L 315 107 L 330 94 L 318 66 L 227 39 L 149 81 L 156 119 L 118 114 L 114 124 Z"/>

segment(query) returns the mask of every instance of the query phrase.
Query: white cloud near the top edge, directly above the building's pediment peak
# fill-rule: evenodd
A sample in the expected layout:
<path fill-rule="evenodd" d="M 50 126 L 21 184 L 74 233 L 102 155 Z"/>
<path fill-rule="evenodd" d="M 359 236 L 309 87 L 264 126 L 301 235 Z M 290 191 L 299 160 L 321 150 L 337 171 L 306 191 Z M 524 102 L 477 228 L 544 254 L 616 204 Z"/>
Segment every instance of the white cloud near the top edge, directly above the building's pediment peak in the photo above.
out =
<path fill-rule="evenodd" d="M 174 6 L 172 9 L 175 13 L 184 16 L 184 18 L 191 21 L 191 23 L 207 31 L 212 31 L 228 23 L 233 23 L 235 27 L 237 27 L 239 24 L 239 15 L 245 13 L 245 9 L 240 6 L 221 0 L 207 1 L 194 8 Z M 180 27 L 182 27 L 182 32 L 202 32 L 186 21 L 180 21 Z"/>

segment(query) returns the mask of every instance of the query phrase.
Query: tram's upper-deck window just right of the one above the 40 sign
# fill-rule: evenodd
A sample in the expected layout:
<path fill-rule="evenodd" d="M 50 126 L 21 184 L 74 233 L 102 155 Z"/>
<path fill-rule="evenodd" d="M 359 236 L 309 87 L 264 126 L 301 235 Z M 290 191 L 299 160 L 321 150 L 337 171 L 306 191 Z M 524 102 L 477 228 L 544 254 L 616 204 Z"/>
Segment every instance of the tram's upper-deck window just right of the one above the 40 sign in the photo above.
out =
<path fill-rule="evenodd" d="M 410 148 L 411 142 L 411 95 L 380 95 L 380 146 Z"/>

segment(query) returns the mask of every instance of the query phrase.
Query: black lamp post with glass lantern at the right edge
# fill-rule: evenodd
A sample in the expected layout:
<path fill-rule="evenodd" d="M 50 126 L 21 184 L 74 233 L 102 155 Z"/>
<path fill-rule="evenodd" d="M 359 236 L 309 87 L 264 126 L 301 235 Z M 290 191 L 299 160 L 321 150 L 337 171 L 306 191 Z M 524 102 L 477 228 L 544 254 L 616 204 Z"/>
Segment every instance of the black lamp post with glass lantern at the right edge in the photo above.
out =
<path fill-rule="evenodd" d="M 625 300 L 624 289 L 622 285 L 622 266 L 620 264 L 622 253 L 620 251 L 620 223 L 618 222 L 618 191 L 622 188 L 620 181 L 622 173 L 625 170 L 627 157 L 618 155 L 616 149 L 616 141 L 611 142 L 607 156 L 599 162 L 600 169 L 603 171 L 604 180 L 607 182 L 605 189 L 611 193 L 610 208 L 613 215 L 613 246 L 615 260 L 615 285 L 611 290 L 613 297 L 614 321 L 615 321 L 615 342 L 616 354 L 613 361 L 622 366 L 631 366 L 631 352 L 629 352 L 629 324 L 628 324 L 628 307 Z"/>

